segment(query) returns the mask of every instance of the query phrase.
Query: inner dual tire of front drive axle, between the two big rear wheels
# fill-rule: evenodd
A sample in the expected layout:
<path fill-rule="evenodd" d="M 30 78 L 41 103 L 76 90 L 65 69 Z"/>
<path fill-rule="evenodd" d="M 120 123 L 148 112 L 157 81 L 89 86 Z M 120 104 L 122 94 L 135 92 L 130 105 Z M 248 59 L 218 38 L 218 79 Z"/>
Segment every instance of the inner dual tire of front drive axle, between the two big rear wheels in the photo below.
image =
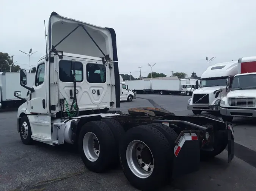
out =
<path fill-rule="evenodd" d="M 123 138 L 125 131 L 120 123 L 114 119 L 102 119 L 101 121 L 110 128 L 115 139 L 115 148 L 113 148 L 113 152 L 115 152 L 115 159 L 113 160 L 113 165 L 115 166 L 119 163 L 119 142 Z"/>

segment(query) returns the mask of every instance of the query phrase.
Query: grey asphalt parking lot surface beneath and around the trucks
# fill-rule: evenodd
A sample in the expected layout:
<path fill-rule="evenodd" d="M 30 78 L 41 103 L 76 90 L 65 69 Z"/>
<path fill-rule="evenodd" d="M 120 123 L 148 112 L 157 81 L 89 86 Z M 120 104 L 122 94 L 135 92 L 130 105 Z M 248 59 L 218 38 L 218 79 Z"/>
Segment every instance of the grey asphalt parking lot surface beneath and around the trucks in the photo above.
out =
<path fill-rule="evenodd" d="M 188 96 L 137 95 L 128 108 L 162 107 L 177 115 L 187 111 Z M 133 191 L 120 168 L 97 174 L 88 171 L 69 145 L 22 144 L 16 127 L 16 111 L 0 112 L 0 191 L 9 190 L 88 190 Z M 235 157 L 227 162 L 225 150 L 212 161 L 201 162 L 198 172 L 170 181 L 163 191 L 255 191 L 255 120 L 234 119 Z"/>

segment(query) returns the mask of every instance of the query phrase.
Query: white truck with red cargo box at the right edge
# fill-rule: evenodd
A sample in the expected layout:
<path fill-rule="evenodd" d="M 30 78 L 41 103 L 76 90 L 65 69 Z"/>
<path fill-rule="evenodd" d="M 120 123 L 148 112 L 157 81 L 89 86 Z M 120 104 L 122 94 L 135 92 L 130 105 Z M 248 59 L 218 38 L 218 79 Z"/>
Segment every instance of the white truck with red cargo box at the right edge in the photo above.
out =
<path fill-rule="evenodd" d="M 223 121 L 233 117 L 256 117 L 256 56 L 238 60 L 239 74 L 227 79 L 228 94 L 220 101 Z"/>

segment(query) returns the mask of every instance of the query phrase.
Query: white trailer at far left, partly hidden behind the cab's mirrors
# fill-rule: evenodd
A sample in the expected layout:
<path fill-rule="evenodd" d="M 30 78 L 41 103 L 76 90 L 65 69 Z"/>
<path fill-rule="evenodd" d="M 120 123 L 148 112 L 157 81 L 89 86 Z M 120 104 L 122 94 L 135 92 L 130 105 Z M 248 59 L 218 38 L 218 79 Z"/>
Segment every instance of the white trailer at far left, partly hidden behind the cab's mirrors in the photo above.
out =
<path fill-rule="evenodd" d="M 35 73 L 28 73 L 27 78 L 28 86 L 32 86 L 35 81 Z M 28 90 L 20 86 L 19 79 L 19 72 L 0 72 L 0 108 L 11 108 L 25 102 L 13 94 L 14 91 L 20 91 L 20 97 L 23 99 L 27 97 Z"/>

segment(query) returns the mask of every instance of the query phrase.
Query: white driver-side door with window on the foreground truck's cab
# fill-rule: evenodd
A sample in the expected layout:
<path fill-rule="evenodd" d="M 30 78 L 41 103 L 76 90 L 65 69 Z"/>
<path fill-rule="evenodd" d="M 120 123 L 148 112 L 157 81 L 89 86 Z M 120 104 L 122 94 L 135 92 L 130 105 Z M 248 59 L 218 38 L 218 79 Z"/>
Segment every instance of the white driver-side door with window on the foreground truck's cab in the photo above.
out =
<path fill-rule="evenodd" d="M 31 92 L 30 111 L 34 113 L 47 113 L 46 103 L 46 63 L 41 60 L 36 68 L 35 89 Z"/>

